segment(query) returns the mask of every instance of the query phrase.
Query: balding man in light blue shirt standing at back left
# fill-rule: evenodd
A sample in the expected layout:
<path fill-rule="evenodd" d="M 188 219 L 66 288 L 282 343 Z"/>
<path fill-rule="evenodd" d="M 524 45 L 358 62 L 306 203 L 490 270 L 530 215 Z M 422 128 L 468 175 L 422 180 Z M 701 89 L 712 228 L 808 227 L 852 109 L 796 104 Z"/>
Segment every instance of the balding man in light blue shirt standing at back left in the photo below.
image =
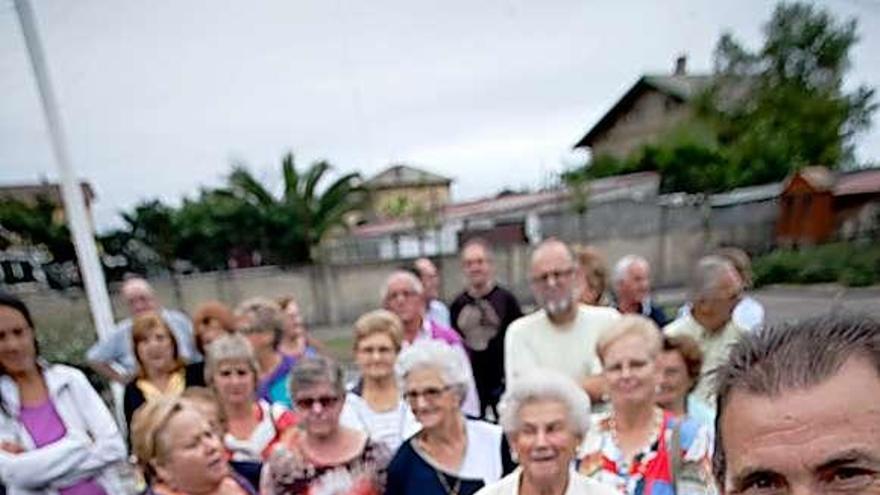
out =
<path fill-rule="evenodd" d="M 180 357 L 188 362 L 201 359 L 195 348 L 189 318 L 179 311 L 162 308 L 149 282 L 142 278 L 128 279 L 122 284 L 120 293 L 131 317 L 120 321 L 110 336 L 96 342 L 86 353 L 89 366 L 98 374 L 123 384 L 131 380 L 137 372 L 131 342 L 132 318 L 149 312 L 159 313 L 168 324 L 177 340 Z"/>

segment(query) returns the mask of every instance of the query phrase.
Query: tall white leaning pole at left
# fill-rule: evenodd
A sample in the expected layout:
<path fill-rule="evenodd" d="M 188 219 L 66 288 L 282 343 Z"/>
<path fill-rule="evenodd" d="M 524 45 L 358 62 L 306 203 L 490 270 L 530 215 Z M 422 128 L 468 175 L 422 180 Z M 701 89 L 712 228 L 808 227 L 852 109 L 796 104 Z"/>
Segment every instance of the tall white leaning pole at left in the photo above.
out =
<path fill-rule="evenodd" d="M 104 339 L 113 330 L 113 311 L 110 306 L 110 297 L 107 295 L 107 284 L 104 281 L 104 272 L 98 260 L 98 250 L 95 247 L 95 236 L 92 224 L 86 213 L 85 201 L 82 188 L 70 164 L 67 154 L 67 142 L 61 127 L 61 116 L 58 113 L 58 105 L 55 94 L 49 83 L 49 68 L 43 55 L 43 46 L 37 34 L 37 25 L 34 20 L 34 11 L 28 0 L 15 0 L 15 8 L 21 22 L 21 30 L 24 33 L 25 44 L 30 54 L 31 66 L 34 69 L 34 77 L 43 100 L 43 111 L 46 114 L 46 122 L 49 124 L 49 136 L 52 141 L 52 151 L 61 171 L 61 197 L 64 201 L 64 217 L 73 234 L 73 244 L 76 248 L 76 257 L 79 260 L 79 270 L 82 273 L 86 286 L 86 295 L 89 306 L 92 309 L 92 320 L 98 331 L 98 338 Z"/>

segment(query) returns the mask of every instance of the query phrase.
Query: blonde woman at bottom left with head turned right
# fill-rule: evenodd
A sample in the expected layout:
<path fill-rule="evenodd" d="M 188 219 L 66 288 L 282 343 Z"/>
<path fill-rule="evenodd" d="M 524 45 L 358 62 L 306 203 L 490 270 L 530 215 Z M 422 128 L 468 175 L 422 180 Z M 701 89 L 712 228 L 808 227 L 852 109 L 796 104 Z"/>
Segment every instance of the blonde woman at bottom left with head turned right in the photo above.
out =
<path fill-rule="evenodd" d="M 256 495 L 229 468 L 220 438 L 186 399 L 144 405 L 134 415 L 131 441 L 147 480 L 145 495 Z"/>

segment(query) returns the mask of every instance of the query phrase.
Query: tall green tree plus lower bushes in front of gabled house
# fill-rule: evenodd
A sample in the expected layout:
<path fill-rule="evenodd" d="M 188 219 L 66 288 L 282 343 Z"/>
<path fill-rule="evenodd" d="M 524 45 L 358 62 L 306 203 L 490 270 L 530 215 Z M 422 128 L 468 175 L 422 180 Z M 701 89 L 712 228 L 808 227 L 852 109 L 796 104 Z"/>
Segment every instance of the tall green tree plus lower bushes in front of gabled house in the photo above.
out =
<path fill-rule="evenodd" d="M 754 51 L 721 36 L 692 120 L 625 159 L 595 157 L 563 179 L 655 170 L 662 192 L 707 194 L 779 181 L 805 165 L 853 165 L 855 138 L 877 108 L 874 89 L 843 88 L 856 21 L 781 3 L 764 34 Z"/>

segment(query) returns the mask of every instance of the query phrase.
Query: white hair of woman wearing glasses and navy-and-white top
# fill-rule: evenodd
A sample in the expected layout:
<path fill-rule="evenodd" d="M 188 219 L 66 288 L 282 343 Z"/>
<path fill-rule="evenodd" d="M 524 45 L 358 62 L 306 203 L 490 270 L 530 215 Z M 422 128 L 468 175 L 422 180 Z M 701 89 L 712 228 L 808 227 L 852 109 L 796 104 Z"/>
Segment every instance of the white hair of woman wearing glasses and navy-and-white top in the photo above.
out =
<path fill-rule="evenodd" d="M 400 353 L 394 369 L 401 382 L 414 370 L 437 370 L 443 382 L 456 389 L 463 401 L 471 382 L 470 366 L 463 360 L 461 353 L 446 342 L 419 340 Z"/>

